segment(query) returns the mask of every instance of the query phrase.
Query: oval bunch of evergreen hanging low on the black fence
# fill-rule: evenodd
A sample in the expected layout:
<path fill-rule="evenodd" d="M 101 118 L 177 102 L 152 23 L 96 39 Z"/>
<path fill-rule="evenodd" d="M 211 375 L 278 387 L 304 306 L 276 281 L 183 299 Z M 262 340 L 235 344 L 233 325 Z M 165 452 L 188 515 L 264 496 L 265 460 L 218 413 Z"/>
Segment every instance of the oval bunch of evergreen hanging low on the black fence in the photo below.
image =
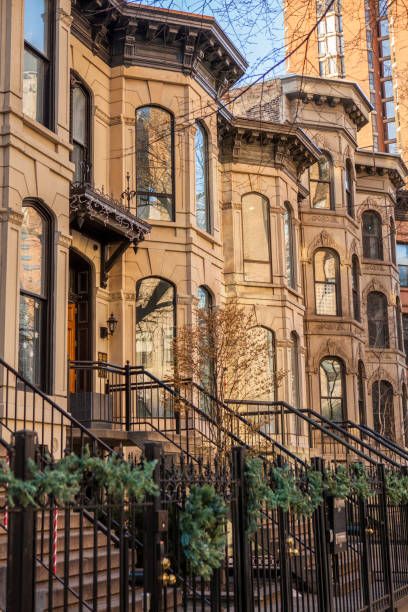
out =
<path fill-rule="evenodd" d="M 227 506 L 212 485 L 194 485 L 180 516 L 181 545 L 193 573 L 208 580 L 221 567 Z"/>

